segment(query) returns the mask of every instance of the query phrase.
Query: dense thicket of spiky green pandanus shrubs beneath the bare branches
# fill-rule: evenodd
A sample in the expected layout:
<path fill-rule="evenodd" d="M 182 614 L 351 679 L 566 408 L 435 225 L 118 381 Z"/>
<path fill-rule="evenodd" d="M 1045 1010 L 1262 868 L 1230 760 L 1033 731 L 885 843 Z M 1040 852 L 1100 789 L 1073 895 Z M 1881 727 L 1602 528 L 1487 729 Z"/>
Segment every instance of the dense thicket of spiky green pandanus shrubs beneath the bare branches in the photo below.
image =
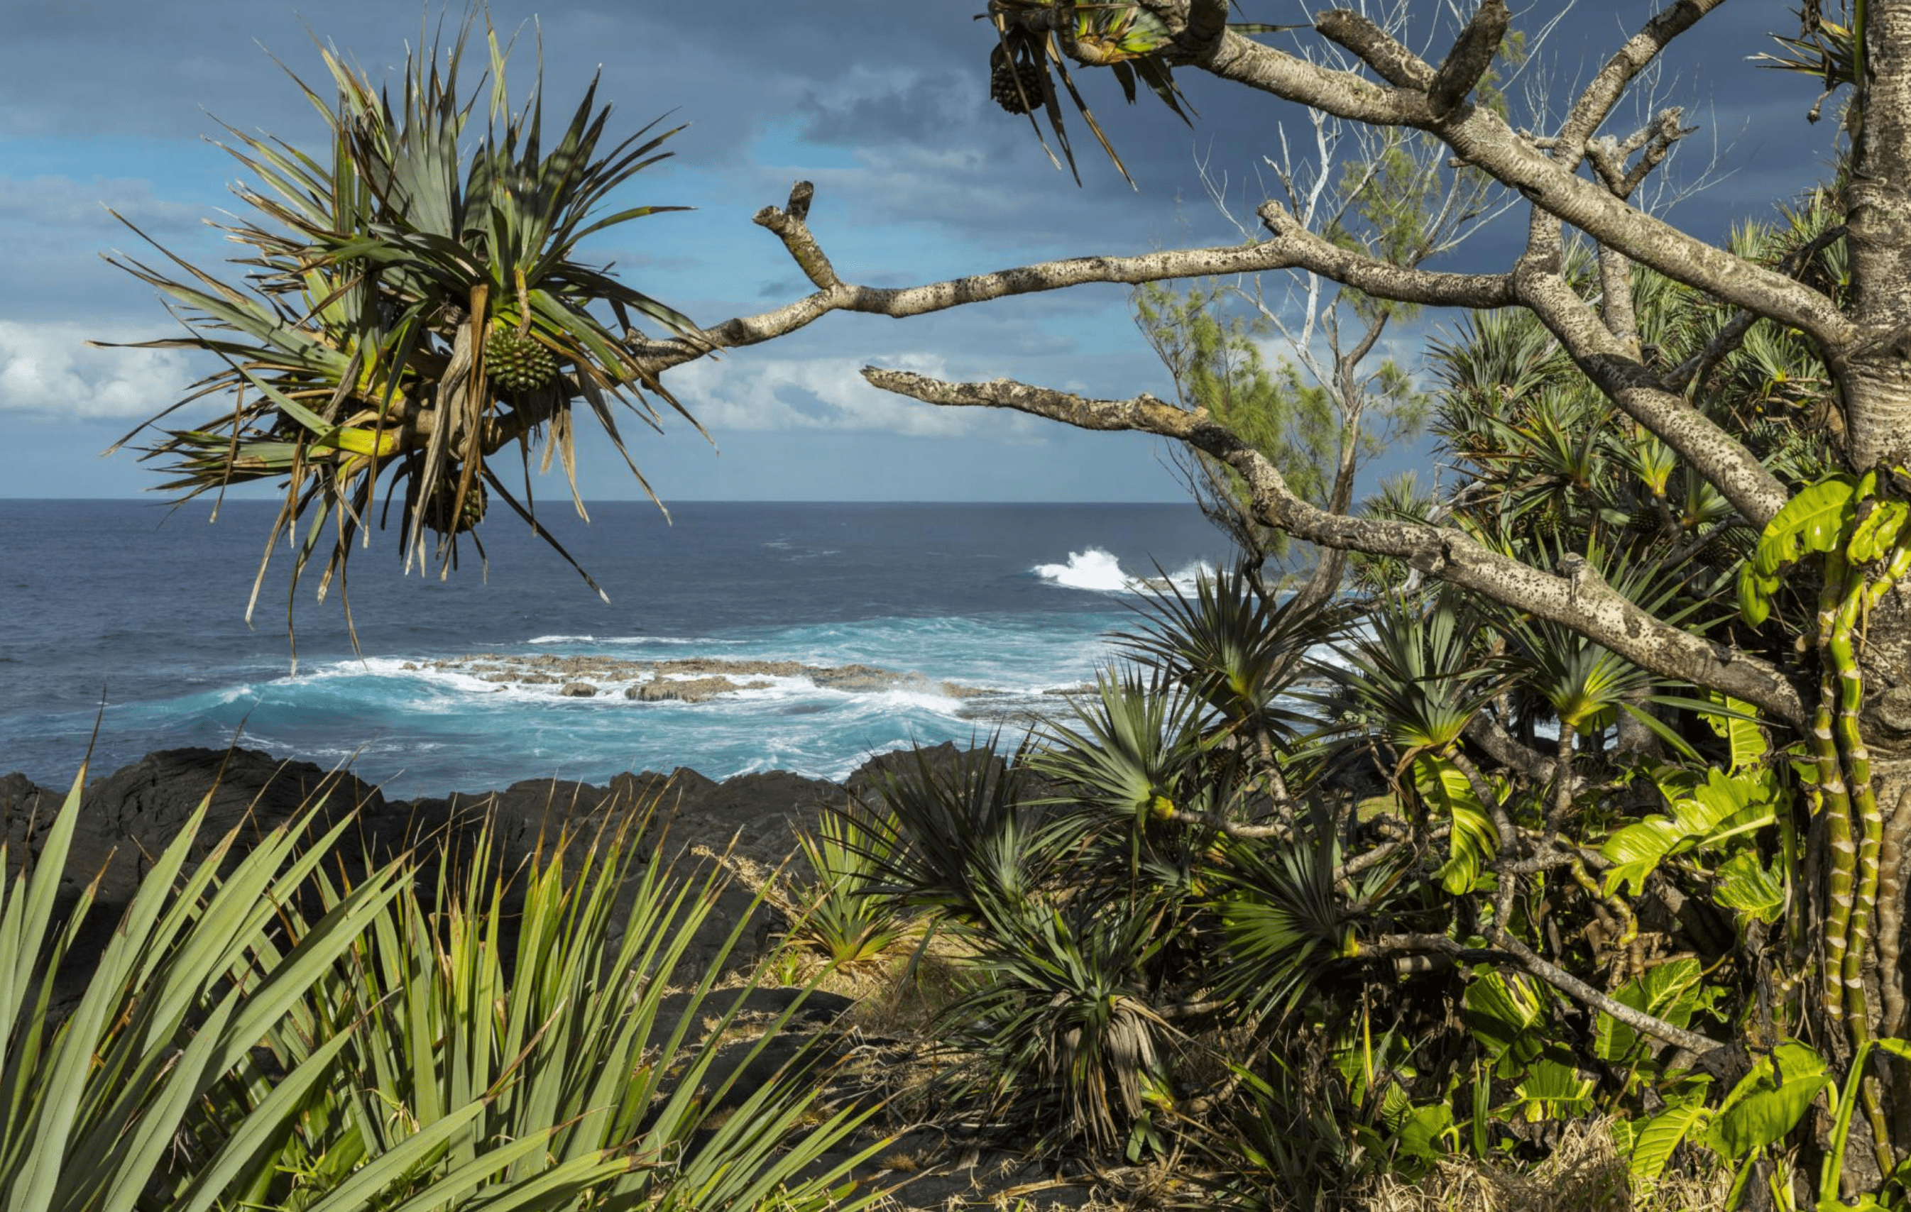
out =
<path fill-rule="evenodd" d="M 1810 247 L 1806 271 L 1835 275 L 1825 214 L 1739 247 Z M 1729 321 L 1643 273 L 1636 310 L 1664 359 Z M 1743 642 L 1747 595 L 1817 600 L 1827 667 L 1852 642 L 1850 585 L 1869 581 L 1835 570 L 1814 595 L 1766 570 L 1833 545 L 1846 566 L 1882 558 L 1852 545 L 1882 551 L 1867 535 L 1905 510 L 1857 510 L 1859 478 L 1800 497 L 1833 522 L 1770 556 L 1773 531 L 1737 526 L 1531 321 L 1475 315 L 1441 375 L 1439 432 L 1468 472 L 1447 509 L 1483 541 L 1571 554 Z M 1815 380 L 1808 350 L 1760 336 L 1699 403 L 1745 411 L 1766 459 L 1815 474 Z M 1842 994 L 1812 975 L 1804 837 L 1846 755 L 1787 749 L 1747 703 L 1405 566 L 1361 575 L 1378 593 L 1353 616 L 1238 574 L 1168 595 L 1120 637 L 1131 663 L 1015 767 L 975 753 L 887 784 L 900 837 L 870 858 L 967 956 L 944 1095 L 1051 1155 L 1179 1158 L 1261 1206 L 1531 1164 L 1592 1122 L 1624 1199 L 1716 1172 L 1733 1204 L 1905 1206 L 1871 1092 L 1911 1057 L 1903 1013 L 1848 1057 L 1814 1034 Z M 1901 891 L 1844 887 L 1894 958 Z M 1825 929 L 1856 939 L 1856 914 Z"/>

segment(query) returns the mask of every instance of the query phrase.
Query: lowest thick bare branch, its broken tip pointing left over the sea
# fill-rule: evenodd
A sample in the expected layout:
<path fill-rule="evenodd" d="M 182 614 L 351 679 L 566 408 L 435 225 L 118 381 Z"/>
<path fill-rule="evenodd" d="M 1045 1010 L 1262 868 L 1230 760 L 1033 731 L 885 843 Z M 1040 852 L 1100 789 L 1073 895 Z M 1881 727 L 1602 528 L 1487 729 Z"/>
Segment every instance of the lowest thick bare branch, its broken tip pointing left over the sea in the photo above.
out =
<path fill-rule="evenodd" d="M 1135 430 L 1173 438 L 1233 466 L 1246 480 L 1256 516 L 1298 539 L 1342 551 L 1395 556 L 1426 575 L 1571 627 L 1663 677 L 1758 703 L 1804 728 L 1810 713 L 1785 677 L 1754 658 L 1664 623 L 1613 591 L 1598 574 L 1552 575 L 1502 556 L 1458 530 L 1418 522 L 1353 518 L 1309 505 L 1257 449 L 1204 409 L 1183 411 L 1154 396 L 1089 400 L 1009 379 L 944 382 L 912 371 L 864 367 L 885 392 L 946 407 L 1007 407 L 1085 430 Z"/>

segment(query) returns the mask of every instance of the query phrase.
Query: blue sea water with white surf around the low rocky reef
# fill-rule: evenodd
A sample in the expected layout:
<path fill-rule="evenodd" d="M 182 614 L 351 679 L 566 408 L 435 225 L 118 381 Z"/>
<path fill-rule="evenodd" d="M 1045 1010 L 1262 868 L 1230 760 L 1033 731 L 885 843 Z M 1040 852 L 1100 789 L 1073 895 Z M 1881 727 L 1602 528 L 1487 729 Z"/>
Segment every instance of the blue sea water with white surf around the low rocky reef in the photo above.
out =
<path fill-rule="evenodd" d="M 1227 554 L 1183 505 L 684 503 L 665 524 L 600 503 L 590 526 L 554 505 L 539 512 L 610 604 L 514 520 L 487 524 L 487 566 L 466 545 L 449 581 L 405 575 L 396 531 L 375 531 L 352 558 L 354 654 L 336 585 L 315 602 L 308 574 L 289 598 L 287 551 L 247 627 L 275 509 L 227 501 L 208 526 L 206 505 L 0 501 L 0 772 L 63 786 L 97 719 L 96 772 L 243 732 L 396 795 L 680 765 L 843 778 L 912 742 L 1013 742 L 1063 707 L 1043 692 L 1112 660 L 1105 633 L 1152 593 L 1139 577 L 1185 585 Z M 1001 694 L 772 679 L 650 703 L 422 667 L 487 652 L 866 663 Z"/>

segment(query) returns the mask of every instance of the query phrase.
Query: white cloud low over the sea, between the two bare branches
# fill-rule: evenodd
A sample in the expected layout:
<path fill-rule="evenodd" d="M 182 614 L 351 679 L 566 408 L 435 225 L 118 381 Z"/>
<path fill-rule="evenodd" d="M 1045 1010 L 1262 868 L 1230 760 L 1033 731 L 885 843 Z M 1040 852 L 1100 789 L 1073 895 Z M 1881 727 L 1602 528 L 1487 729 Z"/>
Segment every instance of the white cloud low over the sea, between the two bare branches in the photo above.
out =
<path fill-rule="evenodd" d="M 889 354 L 885 367 L 946 379 L 933 354 Z M 698 361 L 671 373 L 669 388 L 711 430 L 841 430 L 912 438 L 1028 438 L 1030 417 L 998 409 L 944 409 L 879 392 L 858 357 L 751 357 Z"/>

